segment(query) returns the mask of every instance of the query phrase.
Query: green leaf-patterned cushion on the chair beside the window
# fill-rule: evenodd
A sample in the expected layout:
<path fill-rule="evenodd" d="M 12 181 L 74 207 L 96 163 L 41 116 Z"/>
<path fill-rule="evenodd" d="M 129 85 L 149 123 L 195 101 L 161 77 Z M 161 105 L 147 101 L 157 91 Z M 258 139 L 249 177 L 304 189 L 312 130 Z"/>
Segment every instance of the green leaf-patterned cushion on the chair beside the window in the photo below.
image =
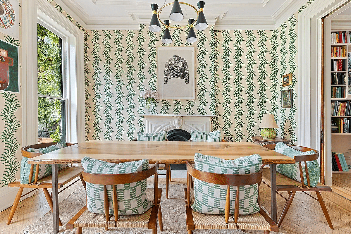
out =
<path fill-rule="evenodd" d="M 36 152 L 36 153 L 49 153 L 52 151 L 55 151 L 57 149 L 61 149 L 66 147 L 66 142 L 60 141 L 56 145 L 52 145 L 46 148 L 41 148 L 41 149 L 34 149 L 34 148 L 28 148 L 28 152 Z M 33 170 L 33 177 L 32 181 L 29 182 L 29 174 L 31 171 L 31 164 L 28 164 L 29 158 L 22 157 L 21 160 L 21 184 L 28 184 L 34 182 L 35 179 L 35 170 L 37 169 L 37 165 L 34 164 L 34 170 Z M 58 170 L 64 169 L 67 167 L 67 164 L 58 164 Z M 39 164 L 39 174 L 38 174 L 38 179 L 44 178 L 45 176 L 51 175 L 51 164 Z"/>

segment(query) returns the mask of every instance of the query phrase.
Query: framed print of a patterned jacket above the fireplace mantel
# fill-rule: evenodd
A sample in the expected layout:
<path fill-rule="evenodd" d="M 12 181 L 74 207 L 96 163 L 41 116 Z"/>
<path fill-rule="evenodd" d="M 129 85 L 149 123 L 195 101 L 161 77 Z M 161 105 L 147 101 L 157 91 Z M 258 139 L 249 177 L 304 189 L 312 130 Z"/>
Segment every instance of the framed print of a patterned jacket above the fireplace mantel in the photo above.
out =
<path fill-rule="evenodd" d="M 160 99 L 195 99 L 194 47 L 157 47 Z"/>

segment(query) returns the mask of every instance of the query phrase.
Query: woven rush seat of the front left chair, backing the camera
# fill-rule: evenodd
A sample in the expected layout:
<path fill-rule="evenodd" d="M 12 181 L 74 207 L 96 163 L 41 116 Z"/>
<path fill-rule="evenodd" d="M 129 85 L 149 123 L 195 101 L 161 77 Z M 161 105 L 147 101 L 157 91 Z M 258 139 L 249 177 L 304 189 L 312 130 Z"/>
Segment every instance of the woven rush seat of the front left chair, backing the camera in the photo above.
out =
<path fill-rule="evenodd" d="M 147 188 L 146 196 L 149 201 L 154 201 L 154 189 Z M 161 197 L 162 189 L 158 189 L 158 196 Z M 158 200 L 158 205 L 160 204 L 160 199 Z M 85 206 L 77 220 L 74 221 L 73 226 L 71 224 L 67 225 L 67 228 L 90 228 L 90 227 L 119 227 L 119 228 L 148 228 L 148 221 L 150 219 L 152 208 L 148 209 L 144 214 L 140 215 L 118 215 L 118 221 L 115 222 L 114 215 L 110 215 L 110 221 L 106 222 L 105 214 L 95 214 L 91 213 Z"/>

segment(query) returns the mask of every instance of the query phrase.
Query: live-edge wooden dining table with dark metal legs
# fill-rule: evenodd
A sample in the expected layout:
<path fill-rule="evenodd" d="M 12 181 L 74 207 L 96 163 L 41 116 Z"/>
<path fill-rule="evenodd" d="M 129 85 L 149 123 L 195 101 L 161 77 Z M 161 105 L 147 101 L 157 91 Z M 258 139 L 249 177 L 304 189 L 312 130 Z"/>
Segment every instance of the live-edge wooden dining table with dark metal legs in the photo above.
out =
<path fill-rule="evenodd" d="M 179 141 L 96 141 L 90 140 L 42 154 L 28 160 L 30 164 L 52 164 L 52 200 L 54 234 L 59 231 L 58 163 L 80 163 L 85 156 L 107 162 L 127 162 L 148 159 L 150 163 L 194 162 L 194 154 L 201 153 L 222 159 L 236 159 L 259 154 L 262 163 L 271 169 L 271 213 L 277 223 L 276 164 L 295 160 L 251 142 L 179 142 Z"/>

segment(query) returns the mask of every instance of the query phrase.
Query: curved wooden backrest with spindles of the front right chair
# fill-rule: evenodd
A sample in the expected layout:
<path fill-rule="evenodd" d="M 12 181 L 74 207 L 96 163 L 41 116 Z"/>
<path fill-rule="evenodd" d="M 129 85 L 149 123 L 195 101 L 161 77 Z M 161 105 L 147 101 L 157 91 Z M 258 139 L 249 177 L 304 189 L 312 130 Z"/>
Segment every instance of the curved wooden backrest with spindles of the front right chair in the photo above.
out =
<path fill-rule="evenodd" d="M 195 169 L 190 165 L 189 162 L 186 162 L 186 170 L 188 172 L 187 177 L 187 189 L 186 189 L 186 196 L 187 196 L 187 206 L 190 207 L 190 187 L 192 182 L 192 177 L 205 181 L 208 183 L 214 183 L 217 185 L 226 185 L 227 186 L 227 196 L 225 199 L 225 222 L 228 223 L 229 221 L 229 213 L 230 213 L 230 186 L 237 186 L 237 193 L 235 197 L 235 208 L 234 208 L 234 222 L 238 223 L 238 216 L 239 216 L 239 203 L 240 201 L 240 186 L 244 185 L 253 185 L 255 183 L 259 183 L 262 179 L 263 169 L 256 173 L 252 174 L 240 174 L 240 175 L 229 175 L 229 174 L 218 174 L 218 173 L 211 173 L 211 172 L 203 172 Z"/>

